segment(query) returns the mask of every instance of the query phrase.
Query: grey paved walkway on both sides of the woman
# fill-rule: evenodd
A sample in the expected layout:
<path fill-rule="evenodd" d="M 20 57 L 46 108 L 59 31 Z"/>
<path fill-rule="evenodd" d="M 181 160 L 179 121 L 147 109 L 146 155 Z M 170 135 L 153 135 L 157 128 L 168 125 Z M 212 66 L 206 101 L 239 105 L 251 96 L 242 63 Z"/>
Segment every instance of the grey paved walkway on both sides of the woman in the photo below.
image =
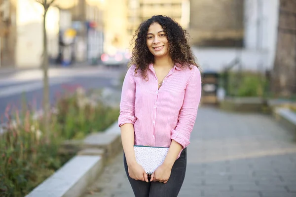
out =
<path fill-rule="evenodd" d="M 296 142 L 272 117 L 201 107 L 178 197 L 296 197 Z M 84 197 L 133 197 L 122 153 Z"/>

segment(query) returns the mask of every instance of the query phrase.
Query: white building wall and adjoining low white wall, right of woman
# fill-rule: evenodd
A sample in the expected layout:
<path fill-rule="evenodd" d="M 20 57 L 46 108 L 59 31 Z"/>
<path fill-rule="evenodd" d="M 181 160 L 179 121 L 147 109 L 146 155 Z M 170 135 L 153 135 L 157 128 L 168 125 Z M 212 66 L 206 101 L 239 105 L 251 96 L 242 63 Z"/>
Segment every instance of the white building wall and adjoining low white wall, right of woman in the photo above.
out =
<path fill-rule="evenodd" d="M 265 71 L 273 67 L 279 0 L 245 0 L 244 6 L 245 48 L 193 48 L 204 71 L 221 71 L 237 56 L 244 70 Z"/>

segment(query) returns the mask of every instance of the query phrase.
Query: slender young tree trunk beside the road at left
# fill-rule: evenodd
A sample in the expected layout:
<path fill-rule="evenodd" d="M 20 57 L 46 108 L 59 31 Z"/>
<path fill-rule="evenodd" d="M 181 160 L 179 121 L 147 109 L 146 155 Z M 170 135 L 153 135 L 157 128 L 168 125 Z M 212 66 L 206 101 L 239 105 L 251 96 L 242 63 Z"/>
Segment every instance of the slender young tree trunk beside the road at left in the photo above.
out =
<path fill-rule="evenodd" d="M 49 102 L 49 85 L 48 85 L 48 50 L 47 50 L 47 33 L 46 33 L 46 14 L 48 8 L 53 4 L 55 0 L 36 0 L 44 8 L 43 14 L 43 124 L 46 141 L 49 142 L 50 130 L 49 130 L 49 115 L 50 115 L 50 102 Z"/>

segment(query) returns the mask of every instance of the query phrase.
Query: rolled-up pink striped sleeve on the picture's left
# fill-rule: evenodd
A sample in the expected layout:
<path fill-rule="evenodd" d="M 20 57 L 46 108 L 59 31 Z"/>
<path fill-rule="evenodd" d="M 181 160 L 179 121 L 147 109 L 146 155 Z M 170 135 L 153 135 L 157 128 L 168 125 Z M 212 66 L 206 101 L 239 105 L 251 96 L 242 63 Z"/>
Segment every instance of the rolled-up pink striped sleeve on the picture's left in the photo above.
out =
<path fill-rule="evenodd" d="M 135 94 L 136 83 L 134 80 L 134 66 L 131 66 L 124 78 L 120 100 L 120 113 L 118 117 L 118 126 L 131 123 L 134 124 L 135 117 Z"/>

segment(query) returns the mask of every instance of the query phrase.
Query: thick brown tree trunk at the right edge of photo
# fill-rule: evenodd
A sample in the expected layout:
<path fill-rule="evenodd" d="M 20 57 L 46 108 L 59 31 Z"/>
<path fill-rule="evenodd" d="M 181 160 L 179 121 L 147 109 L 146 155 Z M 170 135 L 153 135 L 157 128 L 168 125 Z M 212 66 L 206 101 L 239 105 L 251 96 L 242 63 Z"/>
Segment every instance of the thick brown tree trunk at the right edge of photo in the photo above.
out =
<path fill-rule="evenodd" d="M 271 90 L 291 97 L 296 94 L 296 0 L 280 0 L 278 21 Z"/>

